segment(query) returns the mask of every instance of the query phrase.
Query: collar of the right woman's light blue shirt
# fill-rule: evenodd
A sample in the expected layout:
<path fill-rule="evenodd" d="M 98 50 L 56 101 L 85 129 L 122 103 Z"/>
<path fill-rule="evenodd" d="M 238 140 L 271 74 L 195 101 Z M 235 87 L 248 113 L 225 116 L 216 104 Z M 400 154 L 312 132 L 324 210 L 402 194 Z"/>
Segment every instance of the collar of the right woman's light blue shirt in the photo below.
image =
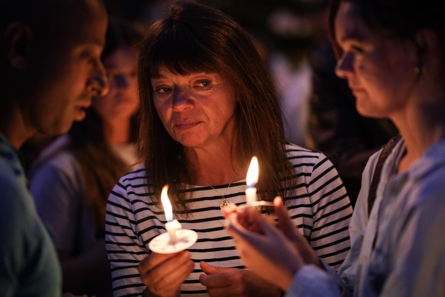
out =
<path fill-rule="evenodd" d="M 409 169 L 411 177 L 421 179 L 437 167 L 445 165 L 445 138 L 442 138 L 423 154 Z"/>

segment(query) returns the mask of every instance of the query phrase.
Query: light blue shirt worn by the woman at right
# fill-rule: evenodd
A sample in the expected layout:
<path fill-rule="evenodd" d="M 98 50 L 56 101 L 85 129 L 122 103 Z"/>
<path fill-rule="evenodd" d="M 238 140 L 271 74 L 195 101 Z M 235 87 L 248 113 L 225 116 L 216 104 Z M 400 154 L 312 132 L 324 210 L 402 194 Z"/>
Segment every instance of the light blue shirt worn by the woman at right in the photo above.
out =
<path fill-rule="evenodd" d="M 445 296 L 445 138 L 396 173 L 404 152 L 401 140 L 383 165 L 368 217 L 380 152 L 369 159 L 349 227 L 351 251 L 339 274 L 306 265 L 288 297 Z"/>

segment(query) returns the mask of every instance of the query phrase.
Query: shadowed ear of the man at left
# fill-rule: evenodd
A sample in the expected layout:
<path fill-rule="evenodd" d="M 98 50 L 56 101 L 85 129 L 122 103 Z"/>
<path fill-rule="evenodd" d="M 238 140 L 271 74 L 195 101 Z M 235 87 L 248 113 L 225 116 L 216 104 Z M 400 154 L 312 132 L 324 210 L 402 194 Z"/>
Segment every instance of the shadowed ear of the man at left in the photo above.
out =
<path fill-rule="evenodd" d="M 13 69 L 23 70 L 28 64 L 32 39 L 31 28 L 22 22 L 13 22 L 4 31 L 6 57 Z"/>

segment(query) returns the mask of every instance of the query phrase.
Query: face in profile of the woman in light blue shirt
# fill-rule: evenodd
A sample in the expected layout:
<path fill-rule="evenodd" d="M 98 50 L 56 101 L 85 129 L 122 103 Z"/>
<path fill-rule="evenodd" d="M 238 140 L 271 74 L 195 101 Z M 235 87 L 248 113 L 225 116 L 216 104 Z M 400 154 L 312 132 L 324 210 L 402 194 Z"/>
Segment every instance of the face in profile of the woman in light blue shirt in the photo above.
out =
<path fill-rule="evenodd" d="M 341 2 L 335 21 L 336 41 L 343 55 L 336 74 L 348 80 L 357 111 L 367 117 L 388 117 L 403 110 L 417 74 L 413 43 L 372 31 L 355 4 Z"/>

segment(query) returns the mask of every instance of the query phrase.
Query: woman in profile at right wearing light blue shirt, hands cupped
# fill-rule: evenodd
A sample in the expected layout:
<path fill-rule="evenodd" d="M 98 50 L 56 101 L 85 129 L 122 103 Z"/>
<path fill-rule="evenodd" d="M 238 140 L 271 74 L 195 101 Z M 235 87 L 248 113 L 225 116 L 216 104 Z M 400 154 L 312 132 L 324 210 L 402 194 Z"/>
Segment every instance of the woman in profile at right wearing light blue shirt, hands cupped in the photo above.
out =
<path fill-rule="evenodd" d="M 368 161 L 338 274 L 290 224 L 280 198 L 281 230 L 258 213 L 228 215 L 247 267 L 288 296 L 444 296 L 443 14 L 437 0 L 332 3 L 337 75 L 360 114 L 390 118 L 401 137 Z"/>

